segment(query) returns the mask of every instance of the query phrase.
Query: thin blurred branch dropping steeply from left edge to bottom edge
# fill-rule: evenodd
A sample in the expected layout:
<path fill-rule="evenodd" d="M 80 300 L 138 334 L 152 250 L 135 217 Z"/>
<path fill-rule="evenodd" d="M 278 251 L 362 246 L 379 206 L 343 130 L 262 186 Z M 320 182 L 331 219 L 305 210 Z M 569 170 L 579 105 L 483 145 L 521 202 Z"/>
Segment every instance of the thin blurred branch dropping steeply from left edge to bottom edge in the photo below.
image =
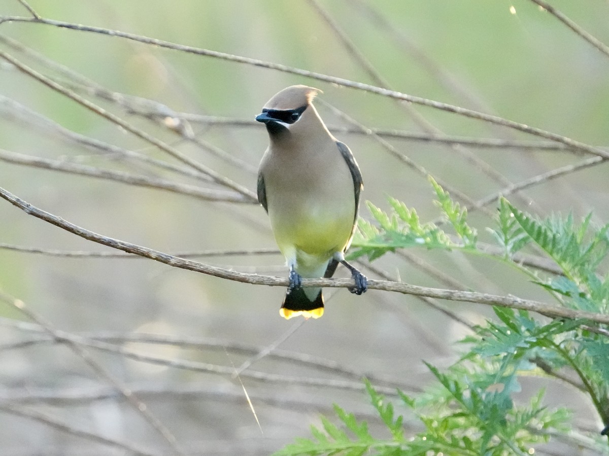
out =
<path fill-rule="evenodd" d="M 61 337 L 61 332 L 57 331 L 49 321 L 46 321 L 41 315 L 38 315 L 37 312 L 26 307 L 25 303 L 21 300 L 13 298 L 12 296 L 7 295 L 0 291 L 0 300 L 14 307 L 16 310 L 26 315 L 30 320 L 35 321 L 37 324 L 44 328 L 44 331 L 51 335 L 53 338 L 58 340 L 65 340 L 68 347 L 75 353 L 77 356 L 82 359 L 86 365 L 88 365 L 97 375 L 105 379 L 109 384 L 111 384 L 118 391 L 121 391 L 121 394 L 125 399 L 132 405 L 133 409 L 135 409 L 144 419 L 152 426 L 155 430 L 157 430 L 161 437 L 169 444 L 172 452 L 174 454 L 185 456 L 185 454 L 177 447 L 177 441 L 175 440 L 174 435 L 164 426 L 159 419 L 154 416 L 144 402 L 140 401 L 137 396 L 135 396 L 132 391 L 129 390 L 118 378 L 116 378 L 113 374 L 110 373 L 106 368 L 104 368 L 100 363 L 91 357 L 91 354 L 86 351 L 80 343 L 75 342 L 71 339 L 64 339 Z"/>

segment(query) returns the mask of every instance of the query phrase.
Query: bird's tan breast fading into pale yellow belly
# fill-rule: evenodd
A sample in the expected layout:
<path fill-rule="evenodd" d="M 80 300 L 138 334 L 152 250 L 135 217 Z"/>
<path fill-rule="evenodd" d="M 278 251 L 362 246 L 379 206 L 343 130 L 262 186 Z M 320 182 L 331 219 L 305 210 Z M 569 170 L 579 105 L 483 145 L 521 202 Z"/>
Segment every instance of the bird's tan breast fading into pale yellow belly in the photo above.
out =
<path fill-rule="evenodd" d="M 261 170 L 280 249 L 320 256 L 342 250 L 353 231 L 356 202 L 353 177 L 336 143 L 267 154 Z"/>

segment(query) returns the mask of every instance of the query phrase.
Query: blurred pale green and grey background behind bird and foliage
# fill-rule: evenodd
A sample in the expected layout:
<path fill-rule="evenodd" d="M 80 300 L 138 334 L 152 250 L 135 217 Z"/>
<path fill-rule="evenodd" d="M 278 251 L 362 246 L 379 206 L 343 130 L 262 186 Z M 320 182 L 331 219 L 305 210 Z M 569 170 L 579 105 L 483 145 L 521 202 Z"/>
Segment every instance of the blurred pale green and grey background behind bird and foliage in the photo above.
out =
<path fill-rule="evenodd" d="M 552 4 L 609 42 L 609 2 Z M 609 58 L 532 1 L 30 0 L 30 5 L 44 18 L 386 85 L 586 144 L 609 144 Z M 0 15 L 29 13 L 17 0 L 1 0 Z M 589 158 L 456 114 L 99 33 L 4 22 L 0 50 L 251 191 L 268 143 L 265 128 L 253 118 L 273 94 L 298 83 L 323 90 L 315 104 L 356 156 L 364 200 L 386 209 L 391 195 L 416 208 L 424 221 L 438 217 L 426 173 L 468 205 Z M 362 133 L 362 126 L 378 128 L 384 143 Z M 458 144 L 454 137 L 484 141 Z M 489 139 L 508 146 L 496 147 Z M 114 180 L 48 169 L 51 164 L 111 170 Z M 594 211 L 593 222 L 600 225 L 609 219 L 608 170 L 599 163 L 566 172 L 509 199 L 540 216 Z M 119 173 L 182 187 L 167 191 L 120 183 Z M 259 205 L 186 194 L 186 188 L 227 188 L 192 175 L 186 164 L 4 60 L 0 186 L 104 236 L 178 255 L 206 252 L 192 259 L 242 272 L 286 275 Z M 470 210 L 471 224 L 485 241 L 496 207 L 492 201 L 486 210 Z M 361 216 L 371 218 L 363 204 Z M 448 367 L 463 350 L 456 342 L 468 334 L 413 296 L 375 290 L 355 296 L 328 289 L 323 318 L 285 321 L 278 315 L 280 287 L 121 256 L 3 200 L 0 243 L 0 290 L 23 300 L 57 330 L 86 336 L 80 346 L 146 404 L 187 454 L 270 454 L 308 435 L 310 424 L 319 423 L 320 413 L 331 413 L 333 402 L 374 427 L 362 374 L 388 395 L 395 387 L 415 393 L 431 381 L 422 360 Z M 113 256 L 91 254 L 100 252 Z M 367 270 L 368 277 L 547 300 L 539 287 L 499 262 L 454 252 L 406 253 L 374 262 L 377 270 Z M 421 268 L 417 259 L 432 269 Z M 447 277 L 430 273 L 434 268 Z M 339 269 L 337 276 L 348 274 Z M 485 306 L 443 305 L 473 323 L 492 314 Z M 160 432 L 116 384 L 66 343 L 52 341 L 6 302 L 0 317 L 0 397 L 9 404 L 0 410 L 2 455 L 132 454 L 129 445 L 142 454 L 169 453 Z M 232 372 L 238 370 L 236 377 Z M 519 393 L 523 401 L 529 391 L 546 386 L 550 407 L 571 407 L 578 429 L 600 429 L 589 404 L 572 389 L 551 380 L 531 382 Z M 566 443 L 545 451 L 541 447 L 538 454 L 576 454 Z"/>

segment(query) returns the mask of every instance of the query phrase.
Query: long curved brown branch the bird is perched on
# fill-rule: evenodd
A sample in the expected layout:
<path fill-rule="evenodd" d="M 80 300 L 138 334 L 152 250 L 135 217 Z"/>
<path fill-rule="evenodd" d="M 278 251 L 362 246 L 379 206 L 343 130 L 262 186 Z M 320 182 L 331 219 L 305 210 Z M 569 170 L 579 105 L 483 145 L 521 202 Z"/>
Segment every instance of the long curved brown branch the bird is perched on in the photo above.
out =
<path fill-rule="evenodd" d="M 108 247 L 126 251 L 136 255 L 144 256 L 155 261 L 178 267 L 182 269 L 200 272 L 214 277 L 229 279 L 248 284 L 267 285 L 267 286 L 282 286 L 287 287 L 288 279 L 272 276 L 260 276 L 256 274 L 245 274 L 231 271 L 224 268 L 214 267 L 207 264 L 191 261 L 188 259 L 177 258 L 175 256 L 153 250 L 152 248 L 142 247 L 140 245 L 130 244 L 123 240 L 114 239 L 112 237 L 102 236 L 101 234 L 93 233 L 74 223 L 67 222 L 60 217 L 38 209 L 30 205 L 19 197 L 16 197 L 9 191 L 0 188 L 0 197 L 7 200 L 13 206 L 21 209 L 33 217 L 44 220 L 52 225 L 58 226 L 63 230 L 83 237 L 84 239 L 97 242 L 98 244 L 107 245 Z M 303 287 L 353 287 L 353 279 L 303 279 Z M 371 290 L 383 290 L 396 293 L 404 293 L 416 296 L 428 296 L 429 298 L 439 298 L 453 301 L 466 301 L 471 303 L 489 304 L 491 306 L 510 307 L 512 309 L 530 310 L 538 314 L 546 315 L 551 318 L 571 318 L 571 319 L 587 319 L 596 321 L 596 323 L 609 324 L 609 314 L 596 314 L 594 312 L 583 312 L 581 310 L 573 310 L 565 307 L 558 307 L 552 304 L 541 303 L 540 301 L 524 300 L 516 296 L 498 296 L 489 293 L 466 292 L 459 290 L 443 290 L 429 287 L 418 287 L 403 282 L 390 282 L 369 280 L 368 288 Z"/>

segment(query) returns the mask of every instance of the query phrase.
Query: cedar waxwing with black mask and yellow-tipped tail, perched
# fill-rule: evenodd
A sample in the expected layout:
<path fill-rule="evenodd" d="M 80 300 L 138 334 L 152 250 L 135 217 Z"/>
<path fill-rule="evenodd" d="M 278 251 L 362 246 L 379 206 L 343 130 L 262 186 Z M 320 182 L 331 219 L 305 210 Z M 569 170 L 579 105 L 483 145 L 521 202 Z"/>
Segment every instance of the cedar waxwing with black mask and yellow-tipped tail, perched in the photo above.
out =
<path fill-rule="evenodd" d="M 319 89 L 294 85 L 275 94 L 256 121 L 270 144 L 258 172 L 258 201 L 289 267 L 280 315 L 319 318 L 320 288 L 301 288 L 301 278 L 331 277 L 342 263 L 361 295 L 368 279 L 345 261 L 356 228 L 362 175 L 351 150 L 337 141 L 311 104 Z"/>

